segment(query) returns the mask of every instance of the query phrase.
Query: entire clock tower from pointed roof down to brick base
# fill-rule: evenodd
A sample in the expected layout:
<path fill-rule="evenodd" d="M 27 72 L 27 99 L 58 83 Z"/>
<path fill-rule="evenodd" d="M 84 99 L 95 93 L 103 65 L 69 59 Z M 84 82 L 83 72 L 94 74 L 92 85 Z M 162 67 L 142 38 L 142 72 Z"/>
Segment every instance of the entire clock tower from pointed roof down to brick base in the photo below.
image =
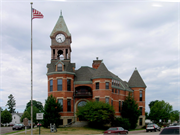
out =
<path fill-rule="evenodd" d="M 61 104 L 61 124 L 74 120 L 75 63 L 71 63 L 71 34 L 61 15 L 50 34 L 51 62 L 47 64 L 48 96 Z"/>

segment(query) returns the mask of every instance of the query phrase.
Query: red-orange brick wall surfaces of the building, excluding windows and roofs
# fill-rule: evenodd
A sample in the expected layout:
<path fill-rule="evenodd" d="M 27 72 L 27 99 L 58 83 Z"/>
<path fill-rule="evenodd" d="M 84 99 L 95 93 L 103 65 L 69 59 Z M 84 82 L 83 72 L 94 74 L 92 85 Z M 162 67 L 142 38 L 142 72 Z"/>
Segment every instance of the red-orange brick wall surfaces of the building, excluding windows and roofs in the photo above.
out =
<path fill-rule="evenodd" d="M 63 87 L 62 91 L 57 91 L 57 77 L 63 77 Z M 67 91 L 67 78 L 72 78 L 71 81 L 71 91 Z M 50 92 L 50 82 L 49 79 L 53 79 L 53 91 Z M 74 115 L 74 99 L 73 92 L 75 87 L 79 86 L 88 86 L 92 89 L 93 96 L 92 98 L 75 98 L 75 104 L 77 105 L 80 99 L 84 100 L 95 100 L 96 97 L 99 98 L 99 101 L 105 102 L 105 97 L 109 97 L 109 104 L 111 105 L 111 100 L 113 100 L 113 107 L 115 109 L 115 115 L 120 116 L 119 113 L 119 101 L 124 101 L 126 96 L 128 96 L 129 92 L 124 90 L 114 89 L 114 93 L 112 93 L 112 82 L 111 79 L 93 79 L 92 84 L 76 84 L 73 83 L 74 75 L 69 74 L 54 74 L 48 76 L 48 96 L 51 94 L 58 98 L 63 97 L 63 112 L 62 116 L 73 116 Z M 99 89 L 96 90 L 96 82 L 99 82 Z M 105 82 L 109 82 L 109 89 L 106 89 Z M 134 99 L 137 101 L 140 107 L 143 107 L 143 115 L 145 115 L 145 88 L 132 88 L 134 90 Z M 116 93 L 115 93 L 116 90 Z M 142 90 L 142 101 L 139 101 L 139 91 Z M 71 97 L 71 112 L 67 112 L 67 97 Z M 77 106 L 76 106 L 77 107 Z"/>

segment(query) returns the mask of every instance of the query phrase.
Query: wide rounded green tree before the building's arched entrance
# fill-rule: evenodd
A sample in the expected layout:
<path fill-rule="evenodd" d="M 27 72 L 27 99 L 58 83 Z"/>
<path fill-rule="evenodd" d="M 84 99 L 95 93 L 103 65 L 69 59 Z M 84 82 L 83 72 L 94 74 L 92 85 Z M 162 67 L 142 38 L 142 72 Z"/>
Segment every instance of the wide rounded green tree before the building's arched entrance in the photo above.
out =
<path fill-rule="evenodd" d="M 97 101 L 89 101 L 86 105 L 78 107 L 77 116 L 89 121 L 94 127 L 109 124 L 114 119 L 113 106 Z"/>

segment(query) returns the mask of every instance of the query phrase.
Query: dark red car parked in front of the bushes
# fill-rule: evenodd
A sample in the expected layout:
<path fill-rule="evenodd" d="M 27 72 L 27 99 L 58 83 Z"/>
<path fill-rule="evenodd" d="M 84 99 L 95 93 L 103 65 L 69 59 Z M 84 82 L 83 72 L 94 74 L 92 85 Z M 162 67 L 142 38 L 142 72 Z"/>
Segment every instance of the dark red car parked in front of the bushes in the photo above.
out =
<path fill-rule="evenodd" d="M 104 132 L 104 135 L 108 134 L 128 134 L 128 130 L 125 130 L 122 127 L 110 127 L 108 130 Z"/>

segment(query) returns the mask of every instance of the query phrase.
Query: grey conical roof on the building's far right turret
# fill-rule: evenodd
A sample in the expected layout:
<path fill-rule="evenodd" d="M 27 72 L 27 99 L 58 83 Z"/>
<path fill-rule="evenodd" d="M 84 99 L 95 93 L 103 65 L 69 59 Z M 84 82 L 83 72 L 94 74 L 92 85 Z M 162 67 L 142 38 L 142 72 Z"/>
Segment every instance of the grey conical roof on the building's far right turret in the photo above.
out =
<path fill-rule="evenodd" d="M 142 87 L 146 88 L 146 84 L 144 83 L 143 79 L 141 78 L 137 69 L 134 70 L 131 78 L 128 81 L 128 85 L 130 88 L 132 87 Z"/>

